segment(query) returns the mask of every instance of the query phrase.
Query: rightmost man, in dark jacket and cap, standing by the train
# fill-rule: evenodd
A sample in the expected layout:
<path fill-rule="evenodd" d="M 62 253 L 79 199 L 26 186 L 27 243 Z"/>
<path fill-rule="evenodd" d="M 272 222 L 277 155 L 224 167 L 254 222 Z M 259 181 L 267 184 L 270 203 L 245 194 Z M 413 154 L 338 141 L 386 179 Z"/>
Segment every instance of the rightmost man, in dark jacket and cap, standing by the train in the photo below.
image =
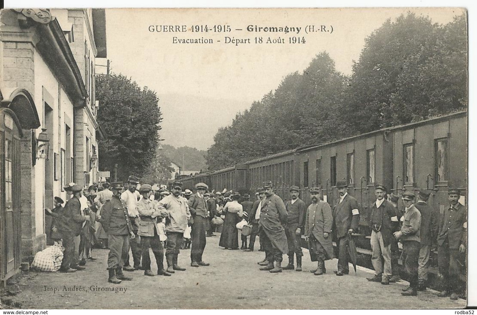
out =
<path fill-rule="evenodd" d="M 460 190 L 449 189 L 449 207 L 444 210 L 437 234 L 439 273 L 446 288 L 438 294 L 451 300 L 458 298 L 460 265 L 458 259 L 465 257 L 467 246 L 467 208 L 459 203 Z"/>

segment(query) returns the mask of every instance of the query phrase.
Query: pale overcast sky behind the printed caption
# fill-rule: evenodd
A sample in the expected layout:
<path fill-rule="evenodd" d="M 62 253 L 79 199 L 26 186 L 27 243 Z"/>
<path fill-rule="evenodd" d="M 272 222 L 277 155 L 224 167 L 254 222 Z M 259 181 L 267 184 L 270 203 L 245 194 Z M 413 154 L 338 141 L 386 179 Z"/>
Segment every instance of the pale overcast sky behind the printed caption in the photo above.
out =
<path fill-rule="evenodd" d="M 107 54 L 112 71 L 157 92 L 163 112 L 161 138 L 176 147 L 207 149 L 221 126 L 238 111 L 278 87 L 288 73 L 302 71 L 326 51 L 336 69 L 351 74 L 364 39 L 387 18 L 408 10 L 447 23 L 462 11 L 434 9 L 106 9 Z M 191 32 L 192 25 L 229 25 L 230 32 Z M 151 25 L 186 25 L 187 32 L 151 32 Z M 249 32 L 248 25 L 299 27 L 291 32 Z M 325 25 L 332 32 L 305 33 Z M 235 29 L 242 29 L 236 31 Z M 211 39 L 213 44 L 179 44 L 178 39 Z M 250 43 L 225 43 L 225 36 Z M 284 39 L 255 44 L 255 37 Z M 305 38 L 290 44 L 290 36 Z M 217 42 L 220 41 L 220 42 Z M 105 64 L 104 60 L 96 63 Z"/>

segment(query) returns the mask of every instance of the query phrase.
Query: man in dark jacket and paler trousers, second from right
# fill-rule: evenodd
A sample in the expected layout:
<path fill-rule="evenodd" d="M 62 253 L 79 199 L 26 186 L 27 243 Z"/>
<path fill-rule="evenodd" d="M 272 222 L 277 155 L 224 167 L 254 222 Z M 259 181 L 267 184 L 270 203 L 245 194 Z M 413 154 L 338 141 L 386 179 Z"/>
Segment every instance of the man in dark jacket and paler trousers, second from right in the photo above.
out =
<path fill-rule="evenodd" d="M 427 271 L 429 269 L 429 256 L 431 248 L 436 247 L 437 232 L 439 229 L 439 214 L 434 212 L 427 204 L 430 190 L 420 190 L 417 194 L 418 201 L 415 207 L 421 213 L 421 248 L 419 250 L 419 266 L 417 268 L 417 290 L 425 291 L 427 286 Z"/>

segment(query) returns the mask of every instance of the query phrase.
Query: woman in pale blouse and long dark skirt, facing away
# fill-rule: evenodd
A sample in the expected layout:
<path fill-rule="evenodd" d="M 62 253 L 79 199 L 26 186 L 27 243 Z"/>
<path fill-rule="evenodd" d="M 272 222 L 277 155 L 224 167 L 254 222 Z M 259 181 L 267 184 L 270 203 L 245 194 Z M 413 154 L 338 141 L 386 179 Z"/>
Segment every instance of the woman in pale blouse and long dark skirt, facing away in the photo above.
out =
<path fill-rule="evenodd" d="M 240 194 L 234 194 L 232 196 L 232 201 L 227 202 L 222 211 L 221 217 L 224 220 L 224 225 L 218 246 L 225 247 L 225 249 L 239 249 L 239 235 L 236 225 L 239 223 L 240 218 L 243 215 L 243 208 L 242 205 L 239 204 L 239 199 Z"/>

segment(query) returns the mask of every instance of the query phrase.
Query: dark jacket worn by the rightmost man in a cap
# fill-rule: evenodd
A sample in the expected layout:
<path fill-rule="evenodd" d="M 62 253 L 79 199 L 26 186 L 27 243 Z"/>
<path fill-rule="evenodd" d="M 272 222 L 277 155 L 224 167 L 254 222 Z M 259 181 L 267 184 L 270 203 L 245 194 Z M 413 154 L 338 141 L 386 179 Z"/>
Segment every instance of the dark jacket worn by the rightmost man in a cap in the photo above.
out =
<path fill-rule="evenodd" d="M 450 249 L 458 249 L 461 244 L 467 246 L 467 208 L 460 203 L 456 209 L 448 207 L 441 216 L 437 244 L 442 246 L 446 237 Z"/>

